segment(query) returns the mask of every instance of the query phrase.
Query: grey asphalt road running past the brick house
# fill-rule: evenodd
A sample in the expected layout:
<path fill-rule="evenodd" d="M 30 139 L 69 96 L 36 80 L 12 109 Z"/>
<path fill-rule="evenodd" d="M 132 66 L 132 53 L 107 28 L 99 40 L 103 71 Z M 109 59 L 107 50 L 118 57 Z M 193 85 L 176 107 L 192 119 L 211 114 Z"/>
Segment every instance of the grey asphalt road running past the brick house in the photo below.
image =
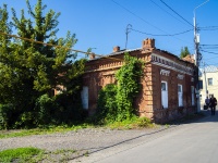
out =
<path fill-rule="evenodd" d="M 97 163 L 218 163 L 218 112 L 94 161 Z"/>

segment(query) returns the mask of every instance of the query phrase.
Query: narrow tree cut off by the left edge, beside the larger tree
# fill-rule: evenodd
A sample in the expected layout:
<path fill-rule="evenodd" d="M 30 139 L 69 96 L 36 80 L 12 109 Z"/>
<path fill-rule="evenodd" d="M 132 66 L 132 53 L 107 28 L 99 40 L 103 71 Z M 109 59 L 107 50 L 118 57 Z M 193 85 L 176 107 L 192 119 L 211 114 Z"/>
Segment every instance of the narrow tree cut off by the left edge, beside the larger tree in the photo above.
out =
<path fill-rule="evenodd" d="M 0 32 L 11 34 L 11 24 L 8 21 L 9 13 L 7 5 L 0 8 Z M 1 103 L 8 103 L 9 99 L 13 100 L 14 89 L 16 89 L 16 83 L 19 75 L 14 70 L 15 62 L 12 62 L 13 46 L 11 45 L 11 38 L 7 35 L 0 35 L 0 101 Z"/>

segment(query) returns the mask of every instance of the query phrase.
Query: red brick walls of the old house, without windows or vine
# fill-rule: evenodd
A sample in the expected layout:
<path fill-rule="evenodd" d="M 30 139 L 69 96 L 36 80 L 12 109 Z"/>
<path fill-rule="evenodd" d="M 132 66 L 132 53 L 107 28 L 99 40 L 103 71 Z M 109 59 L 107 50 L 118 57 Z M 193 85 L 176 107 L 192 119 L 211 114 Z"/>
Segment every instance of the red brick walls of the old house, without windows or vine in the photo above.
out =
<path fill-rule="evenodd" d="M 152 49 L 152 50 L 135 50 L 131 51 L 130 54 L 142 59 L 146 65 L 144 68 L 144 77 L 142 78 L 142 90 L 138 97 L 135 99 L 135 106 L 140 116 L 146 116 L 155 122 L 166 122 L 193 111 L 191 105 L 191 82 L 192 75 L 182 74 L 178 71 L 162 67 L 161 65 L 152 64 L 152 53 L 157 54 L 173 61 L 183 66 L 194 67 L 193 64 L 181 61 L 177 57 L 169 54 L 165 51 Z M 84 75 L 84 86 L 88 87 L 88 110 L 89 113 L 94 113 L 97 104 L 98 92 L 107 84 L 116 82 L 114 73 L 122 66 L 122 61 L 117 59 L 123 59 L 123 53 L 117 53 L 112 55 L 113 59 L 95 59 L 86 64 L 86 74 Z M 116 58 L 116 59 L 114 59 Z M 164 62 L 164 61 L 162 61 Z M 170 71 L 170 75 L 161 75 L 160 71 Z M 178 74 L 183 75 L 183 79 L 178 79 Z M 162 109 L 161 106 L 161 80 L 168 82 L 169 85 L 169 108 Z M 183 106 L 178 106 L 178 84 L 183 86 Z"/>

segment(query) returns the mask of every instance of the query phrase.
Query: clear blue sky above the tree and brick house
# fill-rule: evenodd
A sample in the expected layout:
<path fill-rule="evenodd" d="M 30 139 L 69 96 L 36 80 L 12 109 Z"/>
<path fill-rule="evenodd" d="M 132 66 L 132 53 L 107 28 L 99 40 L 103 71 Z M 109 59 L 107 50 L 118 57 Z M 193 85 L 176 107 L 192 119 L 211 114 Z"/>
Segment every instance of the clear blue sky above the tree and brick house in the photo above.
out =
<path fill-rule="evenodd" d="M 25 0 L 0 0 L 20 15 Z M 35 7 L 37 0 L 29 0 Z M 45 13 L 60 12 L 58 37 L 76 35 L 75 50 L 107 55 L 112 48 L 136 49 L 154 38 L 156 48 L 180 55 L 187 47 L 194 53 L 194 25 L 199 29 L 201 65 L 218 65 L 218 0 L 43 0 Z M 128 32 L 128 41 L 126 41 Z M 180 35 L 179 35 L 180 34 Z M 85 57 L 80 54 L 80 57 Z"/>

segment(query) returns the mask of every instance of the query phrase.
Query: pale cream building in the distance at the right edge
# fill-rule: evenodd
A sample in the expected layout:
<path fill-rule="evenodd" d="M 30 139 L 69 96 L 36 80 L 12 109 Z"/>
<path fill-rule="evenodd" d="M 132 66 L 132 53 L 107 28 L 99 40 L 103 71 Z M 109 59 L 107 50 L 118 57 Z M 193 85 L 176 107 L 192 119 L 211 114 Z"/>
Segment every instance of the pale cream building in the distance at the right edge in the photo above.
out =
<path fill-rule="evenodd" d="M 203 108 L 206 97 L 214 95 L 218 99 L 218 67 L 214 65 L 199 68 L 199 80 L 203 89 L 199 89 L 201 106 Z"/>

